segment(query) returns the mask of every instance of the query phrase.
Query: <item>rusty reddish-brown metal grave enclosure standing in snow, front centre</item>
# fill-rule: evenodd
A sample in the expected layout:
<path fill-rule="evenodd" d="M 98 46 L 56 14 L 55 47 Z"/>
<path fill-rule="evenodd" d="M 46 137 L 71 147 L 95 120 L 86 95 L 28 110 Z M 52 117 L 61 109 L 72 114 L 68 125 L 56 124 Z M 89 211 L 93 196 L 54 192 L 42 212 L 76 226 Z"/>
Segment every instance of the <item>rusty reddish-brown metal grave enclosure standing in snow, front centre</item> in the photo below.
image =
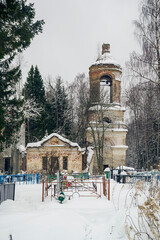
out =
<path fill-rule="evenodd" d="M 50 183 L 46 180 L 42 182 L 42 201 L 49 195 L 51 196 L 51 200 L 53 198 L 57 199 L 60 192 L 63 192 L 69 199 L 75 196 L 101 198 L 103 194 L 104 196 L 108 196 L 108 200 L 110 200 L 107 186 L 110 186 L 110 182 L 106 181 L 105 177 L 87 180 L 66 178 L 61 182 L 55 180 Z"/>

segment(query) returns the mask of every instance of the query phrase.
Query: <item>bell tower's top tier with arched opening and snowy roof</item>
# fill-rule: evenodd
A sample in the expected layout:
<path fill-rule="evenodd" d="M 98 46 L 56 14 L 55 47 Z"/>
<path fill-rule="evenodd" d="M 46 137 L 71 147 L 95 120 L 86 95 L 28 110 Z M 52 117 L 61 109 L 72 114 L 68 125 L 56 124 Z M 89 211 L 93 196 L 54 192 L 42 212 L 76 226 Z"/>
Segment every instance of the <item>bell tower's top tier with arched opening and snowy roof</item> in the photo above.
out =
<path fill-rule="evenodd" d="M 102 55 L 89 68 L 91 104 L 100 101 L 101 86 L 110 88 L 109 103 L 121 103 L 122 69 L 110 54 L 110 45 L 102 45 Z"/>

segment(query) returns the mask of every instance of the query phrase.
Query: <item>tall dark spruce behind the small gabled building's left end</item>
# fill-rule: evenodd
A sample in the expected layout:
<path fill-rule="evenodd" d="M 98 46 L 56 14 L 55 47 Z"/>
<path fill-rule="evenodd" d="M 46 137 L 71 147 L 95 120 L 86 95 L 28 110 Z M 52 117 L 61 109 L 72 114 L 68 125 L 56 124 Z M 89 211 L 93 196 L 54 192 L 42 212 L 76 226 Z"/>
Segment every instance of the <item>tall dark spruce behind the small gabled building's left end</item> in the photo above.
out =
<path fill-rule="evenodd" d="M 43 80 L 36 66 L 31 66 L 24 86 L 25 100 L 32 99 L 41 113 L 36 118 L 26 119 L 26 143 L 40 140 L 45 134 L 46 100 Z"/>

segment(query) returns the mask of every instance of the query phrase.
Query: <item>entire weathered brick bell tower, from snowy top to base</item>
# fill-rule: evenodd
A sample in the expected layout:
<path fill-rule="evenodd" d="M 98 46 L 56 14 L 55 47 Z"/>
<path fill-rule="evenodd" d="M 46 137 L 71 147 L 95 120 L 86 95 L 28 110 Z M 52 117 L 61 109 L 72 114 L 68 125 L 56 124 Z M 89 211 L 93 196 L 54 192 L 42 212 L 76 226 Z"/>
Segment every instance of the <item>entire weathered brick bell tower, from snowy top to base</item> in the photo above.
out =
<path fill-rule="evenodd" d="M 110 54 L 110 45 L 103 44 L 101 56 L 89 68 L 91 107 L 86 138 L 95 148 L 98 139 L 95 141 L 94 138 L 103 138 L 104 168 L 126 164 L 127 129 L 124 124 L 125 108 L 121 106 L 121 77 L 122 69 Z M 91 172 L 98 169 L 96 159 L 94 153 Z"/>

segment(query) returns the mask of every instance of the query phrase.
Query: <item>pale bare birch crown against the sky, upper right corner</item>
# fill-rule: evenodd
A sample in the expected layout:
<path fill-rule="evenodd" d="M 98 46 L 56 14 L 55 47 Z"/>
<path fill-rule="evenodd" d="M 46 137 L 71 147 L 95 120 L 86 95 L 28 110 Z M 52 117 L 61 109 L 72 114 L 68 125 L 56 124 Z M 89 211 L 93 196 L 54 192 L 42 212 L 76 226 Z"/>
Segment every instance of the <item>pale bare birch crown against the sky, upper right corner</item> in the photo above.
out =
<path fill-rule="evenodd" d="M 143 0 L 134 24 L 142 52 L 133 52 L 127 67 L 133 77 L 152 81 L 160 89 L 160 0 Z"/>

